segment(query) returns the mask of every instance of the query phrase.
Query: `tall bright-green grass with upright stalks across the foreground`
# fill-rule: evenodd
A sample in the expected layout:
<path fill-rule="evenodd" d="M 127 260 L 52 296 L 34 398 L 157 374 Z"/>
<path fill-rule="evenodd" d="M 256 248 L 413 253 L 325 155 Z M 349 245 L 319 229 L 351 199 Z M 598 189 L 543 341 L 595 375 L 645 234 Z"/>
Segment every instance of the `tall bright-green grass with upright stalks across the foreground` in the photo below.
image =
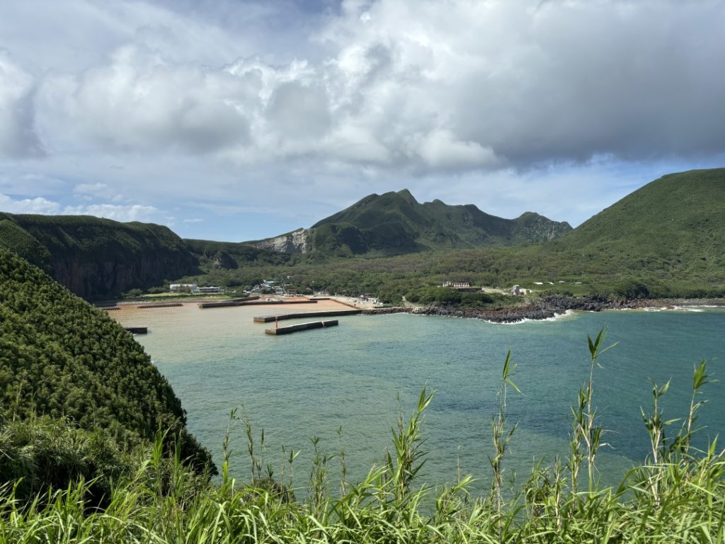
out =
<path fill-rule="evenodd" d="M 506 357 L 499 411 L 492 419 L 492 492 L 473 496 L 471 476 L 455 485 L 428 487 L 423 419 L 433 394 L 424 388 L 409 418 L 392 429 L 392 447 L 381 466 L 362 482 L 346 481 L 344 449 L 340 482 L 331 485 L 331 456 L 313 440 L 314 462 L 305 500 L 291 494 L 296 452 L 284 450 L 273 479 L 244 421 L 251 480 L 238 482 L 228 470 L 229 433 L 220 482 L 209 483 L 183 464 L 178 450 L 164 456 L 163 437 L 136 463 L 133 474 L 115 479 L 104 508 L 88 502 L 93 482 L 81 479 L 26 500 L 22 482 L 0 490 L 2 543 L 722 543 L 725 540 L 725 458 L 716 442 L 692 446 L 706 363 L 695 367 L 692 402 L 682 421 L 663 421 L 668 384 L 653 384 L 653 411 L 642 412 L 651 453 L 617 487 L 600 487 L 595 368 L 607 348 L 605 334 L 589 339 L 589 380 L 573 407 L 571 456 L 552 466 L 538 463 L 511 495 L 502 493 L 506 450 L 515 426 L 506 421 L 507 387 L 513 366 Z M 234 424 L 236 415 L 231 414 Z M 668 429 L 679 422 L 677 432 Z M 340 434 L 340 443 L 341 434 Z M 0 445 L 0 450 L 2 446 Z M 3 454 L 3 452 L 0 452 Z M 586 464 L 588 485 L 576 483 Z M 298 471 L 299 473 L 299 471 Z M 272 485 L 272 482 L 274 485 Z M 333 491 L 334 490 L 334 491 Z"/>

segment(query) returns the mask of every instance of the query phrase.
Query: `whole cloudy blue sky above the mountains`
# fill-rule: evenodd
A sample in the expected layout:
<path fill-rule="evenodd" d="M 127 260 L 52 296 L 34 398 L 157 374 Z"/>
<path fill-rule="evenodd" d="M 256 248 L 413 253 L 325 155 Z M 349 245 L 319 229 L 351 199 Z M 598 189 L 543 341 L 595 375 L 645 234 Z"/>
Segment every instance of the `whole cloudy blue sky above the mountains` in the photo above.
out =
<path fill-rule="evenodd" d="M 725 166 L 725 2 L 0 0 L 0 210 L 240 242 L 368 194 L 577 226 Z"/>

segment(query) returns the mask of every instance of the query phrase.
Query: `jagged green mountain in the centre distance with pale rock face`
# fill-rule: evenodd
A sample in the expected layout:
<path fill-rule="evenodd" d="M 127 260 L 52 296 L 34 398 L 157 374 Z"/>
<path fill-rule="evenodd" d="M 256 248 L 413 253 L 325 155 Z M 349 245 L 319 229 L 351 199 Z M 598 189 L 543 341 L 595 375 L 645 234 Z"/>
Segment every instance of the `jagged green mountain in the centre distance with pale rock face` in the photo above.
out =
<path fill-rule="evenodd" d="M 415 200 L 410 191 L 371 194 L 309 230 L 247 242 L 284 252 L 399 255 L 428 250 L 537 244 L 571 231 L 568 223 L 527 212 L 503 219 L 474 205 Z"/>

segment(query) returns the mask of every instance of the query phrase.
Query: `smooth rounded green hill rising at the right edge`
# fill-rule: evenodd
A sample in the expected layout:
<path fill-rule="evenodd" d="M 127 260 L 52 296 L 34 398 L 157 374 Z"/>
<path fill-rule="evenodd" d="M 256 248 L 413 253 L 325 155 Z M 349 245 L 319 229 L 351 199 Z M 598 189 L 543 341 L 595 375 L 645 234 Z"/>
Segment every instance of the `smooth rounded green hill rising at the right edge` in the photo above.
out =
<path fill-rule="evenodd" d="M 725 271 L 725 168 L 663 176 L 548 245 L 619 271 L 716 284 Z"/>

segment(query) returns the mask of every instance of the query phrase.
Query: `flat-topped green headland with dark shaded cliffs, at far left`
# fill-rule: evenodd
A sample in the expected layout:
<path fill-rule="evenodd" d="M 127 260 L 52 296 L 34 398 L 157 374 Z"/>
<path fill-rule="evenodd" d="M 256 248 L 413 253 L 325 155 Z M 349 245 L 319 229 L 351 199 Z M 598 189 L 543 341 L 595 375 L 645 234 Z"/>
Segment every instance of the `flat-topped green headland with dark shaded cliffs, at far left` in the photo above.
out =
<path fill-rule="evenodd" d="M 0 247 L 88 300 L 196 271 L 196 258 L 169 228 L 88 215 L 0 213 Z"/>

